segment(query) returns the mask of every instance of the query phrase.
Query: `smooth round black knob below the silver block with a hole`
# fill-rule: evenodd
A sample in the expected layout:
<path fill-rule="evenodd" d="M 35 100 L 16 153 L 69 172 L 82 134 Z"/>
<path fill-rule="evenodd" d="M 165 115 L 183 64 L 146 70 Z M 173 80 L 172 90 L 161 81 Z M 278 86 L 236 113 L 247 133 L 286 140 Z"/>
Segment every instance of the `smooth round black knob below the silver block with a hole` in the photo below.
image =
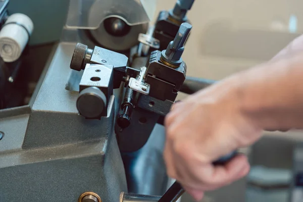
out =
<path fill-rule="evenodd" d="M 89 119 L 100 118 L 106 105 L 106 96 L 97 87 L 83 89 L 77 99 L 77 109 L 79 113 Z"/>

